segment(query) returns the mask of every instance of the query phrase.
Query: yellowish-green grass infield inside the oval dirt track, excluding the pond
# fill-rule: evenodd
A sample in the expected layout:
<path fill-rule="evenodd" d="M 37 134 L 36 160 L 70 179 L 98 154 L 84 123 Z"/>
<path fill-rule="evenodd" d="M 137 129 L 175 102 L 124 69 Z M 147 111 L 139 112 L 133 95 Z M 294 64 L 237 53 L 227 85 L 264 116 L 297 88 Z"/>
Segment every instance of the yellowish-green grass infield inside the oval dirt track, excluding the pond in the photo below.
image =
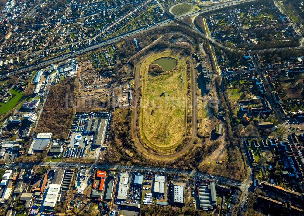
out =
<path fill-rule="evenodd" d="M 152 54 L 140 68 L 144 81 L 141 133 L 147 144 L 161 151 L 176 148 L 186 130 L 187 66 L 185 57 L 179 59 L 177 56 L 180 54 L 171 51 Z M 159 57 L 178 60 L 177 70 L 165 75 L 150 74 L 150 63 Z M 162 95 L 163 91 L 165 93 Z"/>

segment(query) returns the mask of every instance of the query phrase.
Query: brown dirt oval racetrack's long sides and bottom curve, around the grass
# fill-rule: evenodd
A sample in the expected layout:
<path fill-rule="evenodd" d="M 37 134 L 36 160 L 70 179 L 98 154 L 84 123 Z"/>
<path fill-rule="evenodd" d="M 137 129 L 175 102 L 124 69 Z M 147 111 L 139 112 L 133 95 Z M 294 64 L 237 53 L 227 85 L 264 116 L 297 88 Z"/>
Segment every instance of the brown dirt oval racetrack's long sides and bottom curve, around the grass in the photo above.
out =
<path fill-rule="evenodd" d="M 137 119 L 137 111 L 138 111 L 138 106 L 140 106 L 140 101 L 138 100 L 140 97 L 140 66 L 141 62 L 143 62 L 148 56 L 150 56 L 151 53 L 145 55 L 142 57 L 139 61 L 139 63 L 135 66 L 135 98 L 137 100 L 134 103 L 134 112 L 133 112 L 133 119 L 132 119 L 132 133 L 133 133 L 133 138 L 135 139 L 135 144 L 141 149 L 141 151 L 149 156 L 152 157 L 153 159 L 158 159 L 158 160 L 171 160 L 174 158 L 177 158 L 183 154 L 185 154 L 188 151 L 188 148 L 193 145 L 193 141 L 196 136 L 196 119 L 197 119 L 197 106 L 196 106 L 196 101 L 197 101 L 197 95 L 196 95 L 196 81 L 195 81 L 195 70 L 194 70 L 194 65 L 192 62 L 194 61 L 191 57 L 187 57 L 188 61 L 190 62 L 190 71 L 191 71 L 191 90 L 192 90 L 192 134 L 191 138 L 185 147 L 179 151 L 175 152 L 170 155 L 157 155 L 154 152 L 149 151 L 146 147 L 143 146 L 143 144 L 140 142 L 139 137 L 138 137 L 138 131 L 136 127 L 136 119 Z"/>

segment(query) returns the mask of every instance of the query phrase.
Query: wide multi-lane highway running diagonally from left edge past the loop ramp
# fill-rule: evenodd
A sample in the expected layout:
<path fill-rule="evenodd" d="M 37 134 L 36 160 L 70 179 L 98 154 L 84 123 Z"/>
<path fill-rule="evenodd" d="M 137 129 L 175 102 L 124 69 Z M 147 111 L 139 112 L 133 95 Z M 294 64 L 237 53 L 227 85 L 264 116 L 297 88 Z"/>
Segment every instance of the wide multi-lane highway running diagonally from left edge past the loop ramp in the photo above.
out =
<path fill-rule="evenodd" d="M 214 11 L 214 10 L 223 9 L 225 7 L 228 7 L 228 6 L 237 5 L 237 4 L 246 3 L 246 2 L 253 2 L 253 1 L 256 1 L 256 0 L 235 0 L 235 1 L 225 2 L 225 3 L 221 3 L 221 4 L 217 4 L 217 5 L 212 5 L 210 7 L 207 7 L 205 9 L 201 9 L 201 10 L 198 10 L 198 11 L 189 12 L 189 13 L 186 13 L 186 14 L 181 15 L 179 17 L 183 18 L 183 17 L 186 17 L 186 16 L 194 16 L 194 15 L 197 15 L 197 14 L 200 14 L 200 13 L 207 13 L 207 12 L 211 12 L 211 11 Z M 119 40 L 125 39 L 127 37 L 133 37 L 134 35 L 136 35 L 137 33 L 142 32 L 142 31 L 147 31 L 147 30 L 157 28 L 158 25 L 162 26 L 162 25 L 168 24 L 172 20 L 174 20 L 174 16 L 168 17 L 167 19 L 160 20 L 160 21 L 156 22 L 156 24 L 150 24 L 150 26 L 148 26 L 148 27 L 143 26 L 143 27 L 140 27 L 140 28 L 135 29 L 133 31 L 127 32 L 125 34 L 121 34 L 119 36 L 115 36 L 115 37 L 111 37 L 109 39 L 103 40 L 103 41 L 98 42 L 96 44 L 92 44 L 92 45 L 89 45 L 87 47 L 82 47 L 82 48 L 76 49 L 74 51 L 67 52 L 67 53 L 49 58 L 49 59 L 44 60 L 44 61 L 40 61 L 36 64 L 27 65 L 23 68 L 19 68 L 17 73 L 23 73 L 23 72 L 26 72 L 26 71 L 33 71 L 33 70 L 36 70 L 36 69 L 46 67 L 50 64 L 54 64 L 54 63 L 57 63 L 57 62 L 60 62 L 60 61 L 67 60 L 69 58 L 76 57 L 78 55 L 81 55 L 81 54 L 99 49 L 100 47 L 108 46 L 109 44 L 118 42 Z M 216 42 L 211 37 L 206 37 L 206 39 L 210 40 L 213 43 Z M 16 70 L 1 73 L 0 78 L 4 78 L 4 77 L 7 77 L 7 76 L 12 76 L 15 73 L 16 73 Z"/>

